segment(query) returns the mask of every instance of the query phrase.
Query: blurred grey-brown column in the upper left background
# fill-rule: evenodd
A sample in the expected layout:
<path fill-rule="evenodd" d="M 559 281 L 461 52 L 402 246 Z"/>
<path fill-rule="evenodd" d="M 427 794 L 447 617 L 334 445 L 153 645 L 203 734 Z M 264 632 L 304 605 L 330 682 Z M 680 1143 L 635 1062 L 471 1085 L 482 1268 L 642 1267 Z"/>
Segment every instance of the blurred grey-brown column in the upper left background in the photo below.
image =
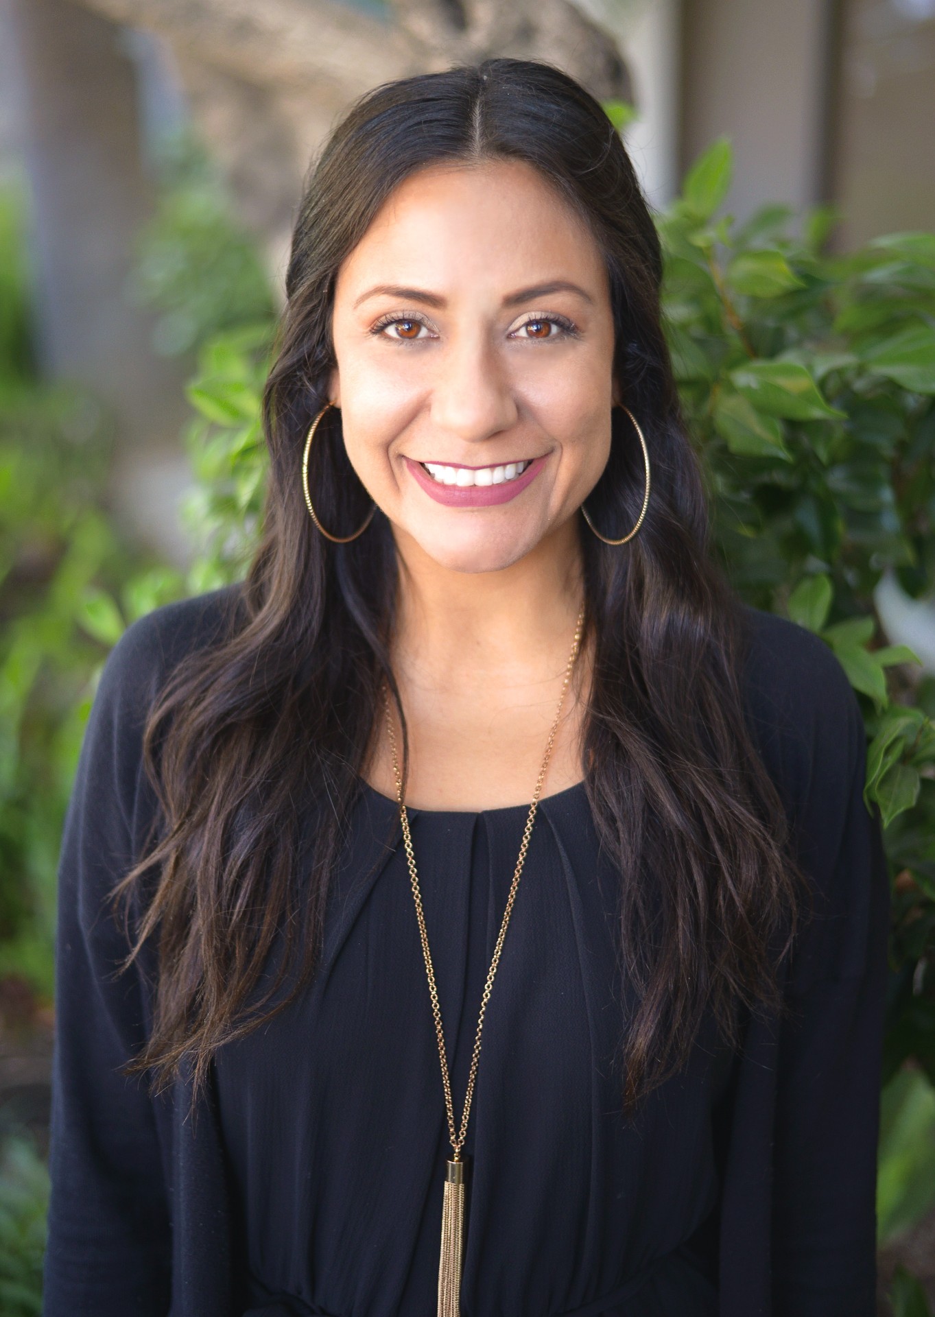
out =
<path fill-rule="evenodd" d="M 70 0 L 8 0 L 8 26 L 41 362 L 50 378 L 78 381 L 113 412 L 115 510 L 144 540 L 182 557 L 174 499 L 187 470 L 178 433 L 188 366 L 153 352 L 151 317 L 126 299 L 154 180 L 124 30 Z"/>

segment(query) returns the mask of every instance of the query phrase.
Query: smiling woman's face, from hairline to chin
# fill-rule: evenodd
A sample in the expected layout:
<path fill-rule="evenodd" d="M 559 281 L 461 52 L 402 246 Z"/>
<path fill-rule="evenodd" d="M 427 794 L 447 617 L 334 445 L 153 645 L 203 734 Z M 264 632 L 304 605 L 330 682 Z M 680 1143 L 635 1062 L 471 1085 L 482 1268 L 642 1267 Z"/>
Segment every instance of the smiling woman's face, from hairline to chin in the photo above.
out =
<path fill-rule="evenodd" d="M 597 483 L 618 400 L 607 271 L 531 166 L 402 183 L 338 270 L 332 328 L 348 456 L 400 548 L 495 572 Z"/>

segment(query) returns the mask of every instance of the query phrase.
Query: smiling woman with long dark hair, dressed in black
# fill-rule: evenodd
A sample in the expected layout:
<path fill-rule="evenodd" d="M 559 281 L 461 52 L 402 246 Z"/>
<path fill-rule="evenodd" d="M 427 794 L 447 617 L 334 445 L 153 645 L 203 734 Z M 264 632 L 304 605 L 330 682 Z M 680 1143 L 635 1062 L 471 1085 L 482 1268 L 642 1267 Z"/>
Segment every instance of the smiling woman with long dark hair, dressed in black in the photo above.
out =
<path fill-rule="evenodd" d="M 873 1312 L 860 710 L 707 556 L 660 273 L 553 68 L 334 130 L 262 544 L 86 735 L 49 1317 Z"/>

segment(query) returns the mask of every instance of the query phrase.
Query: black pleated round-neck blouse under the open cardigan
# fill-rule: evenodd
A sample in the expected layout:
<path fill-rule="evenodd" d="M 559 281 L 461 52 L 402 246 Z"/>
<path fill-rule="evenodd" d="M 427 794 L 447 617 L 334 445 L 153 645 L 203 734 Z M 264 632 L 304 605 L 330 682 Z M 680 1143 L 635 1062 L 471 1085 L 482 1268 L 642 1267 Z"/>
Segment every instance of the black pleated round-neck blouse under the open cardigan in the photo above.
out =
<path fill-rule="evenodd" d="M 410 813 L 460 1119 L 528 806 Z M 352 835 L 315 989 L 219 1058 L 221 1130 L 255 1300 L 431 1313 L 450 1146 L 395 802 L 367 788 Z M 710 1241 L 705 1270 L 680 1246 L 716 1204 L 730 1058 L 706 1036 L 624 1123 L 618 888 L 583 786 L 543 801 L 468 1125 L 466 1313 L 716 1314 Z"/>

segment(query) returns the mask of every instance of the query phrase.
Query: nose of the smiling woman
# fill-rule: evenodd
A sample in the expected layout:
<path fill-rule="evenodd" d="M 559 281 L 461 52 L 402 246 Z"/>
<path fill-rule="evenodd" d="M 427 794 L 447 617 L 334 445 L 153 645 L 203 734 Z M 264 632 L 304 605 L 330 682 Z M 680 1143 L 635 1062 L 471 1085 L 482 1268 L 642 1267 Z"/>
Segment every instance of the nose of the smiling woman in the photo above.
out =
<path fill-rule="evenodd" d="M 508 374 L 485 335 L 465 335 L 448 345 L 433 381 L 431 416 L 440 431 L 469 444 L 516 424 Z"/>

